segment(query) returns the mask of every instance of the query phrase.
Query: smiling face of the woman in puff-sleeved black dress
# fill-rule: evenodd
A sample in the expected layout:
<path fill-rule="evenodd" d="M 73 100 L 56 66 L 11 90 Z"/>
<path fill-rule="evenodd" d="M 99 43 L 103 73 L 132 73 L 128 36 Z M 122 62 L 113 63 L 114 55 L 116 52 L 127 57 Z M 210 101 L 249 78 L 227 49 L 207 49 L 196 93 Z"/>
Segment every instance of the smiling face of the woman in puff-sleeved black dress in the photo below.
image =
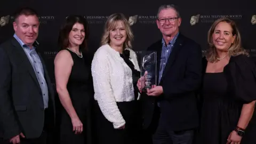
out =
<path fill-rule="evenodd" d="M 212 34 L 212 42 L 217 50 L 227 51 L 234 43 L 236 35 L 232 34 L 233 29 L 227 22 L 220 22 Z"/>

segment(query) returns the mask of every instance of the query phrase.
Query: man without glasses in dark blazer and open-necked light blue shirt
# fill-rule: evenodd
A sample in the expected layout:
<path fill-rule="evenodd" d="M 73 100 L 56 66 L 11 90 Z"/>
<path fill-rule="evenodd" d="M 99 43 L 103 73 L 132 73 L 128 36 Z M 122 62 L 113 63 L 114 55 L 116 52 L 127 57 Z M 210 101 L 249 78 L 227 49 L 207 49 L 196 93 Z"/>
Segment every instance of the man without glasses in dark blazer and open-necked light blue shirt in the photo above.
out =
<path fill-rule="evenodd" d="M 29 7 L 14 15 L 14 36 L 0 45 L 0 143 L 46 143 L 55 121 L 54 92 L 37 52 L 39 20 Z"/>

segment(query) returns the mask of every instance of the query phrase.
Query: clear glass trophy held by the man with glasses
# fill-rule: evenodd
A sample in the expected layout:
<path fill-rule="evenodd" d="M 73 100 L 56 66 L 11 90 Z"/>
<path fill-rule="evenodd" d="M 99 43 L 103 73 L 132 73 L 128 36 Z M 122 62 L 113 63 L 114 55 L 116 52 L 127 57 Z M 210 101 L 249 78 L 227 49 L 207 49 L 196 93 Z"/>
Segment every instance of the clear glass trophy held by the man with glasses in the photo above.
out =
<path fill-rule="evenodd" d="M 141 52 L 141 87 L 142 92 L 147 92 L 152 85 L 157 85 L 156 81 L 156 51 Z"/>

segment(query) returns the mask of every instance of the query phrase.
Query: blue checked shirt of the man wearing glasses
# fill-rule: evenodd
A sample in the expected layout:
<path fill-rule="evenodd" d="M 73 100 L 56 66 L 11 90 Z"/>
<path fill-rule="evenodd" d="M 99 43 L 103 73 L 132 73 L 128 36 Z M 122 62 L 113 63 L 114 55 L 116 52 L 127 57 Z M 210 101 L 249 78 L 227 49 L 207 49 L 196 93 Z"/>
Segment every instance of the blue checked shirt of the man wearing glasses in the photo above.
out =
<path fill-rule="evenodd" d="M 159 70 L 159 77 L 158 77 L 158 84 L 161 82 L 161 78 L 163 75 L 163 71 L 165 68 L 165 65 L 167 63 L 167 60 L 169 58 L 169 55 L 172 51 L 172 47 L 178 37 L 179 33 L 173 37 L 173 39 L 166 45 L 164 38 L 162 38 L 162 53 L 161 53 L 161 61 L 160 61 L 160 70 Z"/>

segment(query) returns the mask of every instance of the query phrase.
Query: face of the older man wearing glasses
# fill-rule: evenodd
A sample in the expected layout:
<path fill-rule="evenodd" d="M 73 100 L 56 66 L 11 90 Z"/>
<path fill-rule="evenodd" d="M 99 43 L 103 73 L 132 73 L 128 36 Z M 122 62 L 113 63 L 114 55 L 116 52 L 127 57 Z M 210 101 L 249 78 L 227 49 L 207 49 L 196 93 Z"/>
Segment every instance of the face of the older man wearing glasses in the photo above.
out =
<path fill-rule="evenodd" d="M 159 12 L 156 23 L 164 36 L 172 36 L 179 32 L 181 18 L 178 17 L 174 9 L 163 9 Z"/>

